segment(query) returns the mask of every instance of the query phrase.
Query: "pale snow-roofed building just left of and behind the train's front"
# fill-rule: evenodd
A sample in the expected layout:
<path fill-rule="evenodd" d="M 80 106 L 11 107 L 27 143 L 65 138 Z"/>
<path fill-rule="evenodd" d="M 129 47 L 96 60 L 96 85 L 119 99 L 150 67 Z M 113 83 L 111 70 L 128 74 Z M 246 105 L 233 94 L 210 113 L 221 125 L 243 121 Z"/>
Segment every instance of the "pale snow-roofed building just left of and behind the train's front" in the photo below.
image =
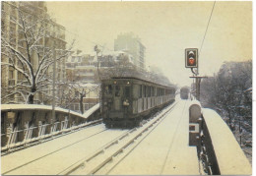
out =
<path fill-rule="evenodd" d="M 88 110 L 98 102 L 100 80 L 104 79 L 104 74 L 108 70 L 116 67 L 115 63 L 127 59 L 134 64 L 134 58 L 123 51 L 114 51 L 108 53 L 85 54 L 81 50 L 73 52 L 66 61 L 67 82 L 72 84 L 70 93 L 70 109 L 81 112 L 81 93 L 84 89 L 87 94 L 83 97 L 83 108 Z"/>

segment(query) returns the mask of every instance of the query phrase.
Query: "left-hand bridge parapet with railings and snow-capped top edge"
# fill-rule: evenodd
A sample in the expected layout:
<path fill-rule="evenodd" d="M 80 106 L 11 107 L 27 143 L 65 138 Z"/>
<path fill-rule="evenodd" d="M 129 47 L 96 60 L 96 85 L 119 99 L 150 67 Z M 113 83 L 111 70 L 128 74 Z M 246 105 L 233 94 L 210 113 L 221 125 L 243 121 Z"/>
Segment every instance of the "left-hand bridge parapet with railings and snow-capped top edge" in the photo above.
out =
<path fill-rule="evenodd" d="M 1 150 L 32 145 L 43 139 L 88 126 L 99 118 L 99 104 L 80 114 L 68 109 L 35 104 L 1 105 Z"/>

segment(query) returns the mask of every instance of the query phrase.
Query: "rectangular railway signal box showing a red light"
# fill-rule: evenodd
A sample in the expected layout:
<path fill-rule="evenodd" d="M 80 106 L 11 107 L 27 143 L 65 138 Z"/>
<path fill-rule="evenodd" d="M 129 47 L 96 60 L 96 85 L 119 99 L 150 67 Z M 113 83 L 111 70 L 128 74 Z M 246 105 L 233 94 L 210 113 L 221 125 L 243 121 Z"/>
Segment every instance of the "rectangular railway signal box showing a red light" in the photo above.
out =
<path fill-rule="evenodd" d="M 185 63 L 186 68 L 198 68 L 198 49 L 186 48 L 185 49 Z"/>

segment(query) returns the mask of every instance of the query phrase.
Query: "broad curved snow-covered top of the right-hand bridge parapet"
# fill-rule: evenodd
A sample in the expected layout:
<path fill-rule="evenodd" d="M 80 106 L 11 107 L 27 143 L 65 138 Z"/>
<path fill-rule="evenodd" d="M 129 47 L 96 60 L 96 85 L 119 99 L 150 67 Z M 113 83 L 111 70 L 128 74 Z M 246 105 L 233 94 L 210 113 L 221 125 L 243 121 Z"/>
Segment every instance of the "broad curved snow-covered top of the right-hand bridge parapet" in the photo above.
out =
<path fill-rule="evenodd" d="M 212 109 L 203 108 L 203 118 L 205 139 L 208 138 L 205 145 L 214 148 L 220 170 L 218 174 L 251 175 L 251 164 L 222 117 Z"/>

